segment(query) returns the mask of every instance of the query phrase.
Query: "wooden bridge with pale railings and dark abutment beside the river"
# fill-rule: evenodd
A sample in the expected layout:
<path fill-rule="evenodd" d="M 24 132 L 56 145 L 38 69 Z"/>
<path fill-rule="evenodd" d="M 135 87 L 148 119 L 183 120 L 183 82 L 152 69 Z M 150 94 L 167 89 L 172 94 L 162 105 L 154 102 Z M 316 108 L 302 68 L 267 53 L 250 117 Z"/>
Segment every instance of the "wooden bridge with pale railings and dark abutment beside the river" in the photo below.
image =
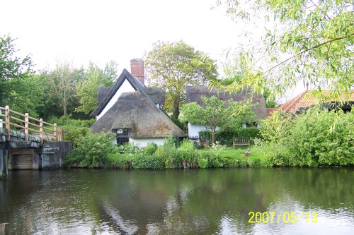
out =
<path fill-rule="evenodd" d="M 0 107 L 0 176 L 12 169 L 45 169 L 64 165 L 72 149 L 64 129 L 10 107 Z"/>

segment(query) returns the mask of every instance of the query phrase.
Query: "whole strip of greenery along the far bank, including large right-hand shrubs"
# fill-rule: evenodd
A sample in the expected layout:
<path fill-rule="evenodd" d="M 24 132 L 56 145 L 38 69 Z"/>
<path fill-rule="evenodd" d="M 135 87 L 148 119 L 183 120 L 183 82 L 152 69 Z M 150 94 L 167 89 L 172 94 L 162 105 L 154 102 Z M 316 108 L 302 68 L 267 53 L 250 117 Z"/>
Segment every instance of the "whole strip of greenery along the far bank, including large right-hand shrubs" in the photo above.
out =
<path fill-rule="evenodd" d="M 245 128 L 243 134 L 249 133 L 252 144 L 236 148 L 227 146 L 230 133 L 219 133 L 215 138 L 220 141 L 210 147 L 196 147 L 170 136 L 164 145 L 149 143 L 139 148 L 129 143 L 112 145 L 112 134 L 93 134 L 81 127 L 73 130 L 79 138 L 67 135 L 74 150 L 66 163 L 69 167 L 114 169 L 353 166 L 353 122 L 353 112 L 311 109 L 299 116 L 277 112 L 265 119 L 258 131 Z M 250 151 L 248 156 L 244 155 L 246 150 Z"/>

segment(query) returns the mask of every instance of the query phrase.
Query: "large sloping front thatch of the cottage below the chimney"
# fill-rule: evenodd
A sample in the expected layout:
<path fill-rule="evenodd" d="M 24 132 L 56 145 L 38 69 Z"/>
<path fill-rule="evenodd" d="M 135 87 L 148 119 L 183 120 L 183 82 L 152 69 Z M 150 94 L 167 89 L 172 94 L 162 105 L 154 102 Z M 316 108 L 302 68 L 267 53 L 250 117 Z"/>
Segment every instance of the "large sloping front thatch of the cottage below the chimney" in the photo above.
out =
<path fill-rule="evenodd" d="M 118 101 L 91 126 L 93 132 L 110 132 L 130 128 L 130 138 L 166 138 L 169 135 L 185 136 L 144 93 L 122 93 Z"/>

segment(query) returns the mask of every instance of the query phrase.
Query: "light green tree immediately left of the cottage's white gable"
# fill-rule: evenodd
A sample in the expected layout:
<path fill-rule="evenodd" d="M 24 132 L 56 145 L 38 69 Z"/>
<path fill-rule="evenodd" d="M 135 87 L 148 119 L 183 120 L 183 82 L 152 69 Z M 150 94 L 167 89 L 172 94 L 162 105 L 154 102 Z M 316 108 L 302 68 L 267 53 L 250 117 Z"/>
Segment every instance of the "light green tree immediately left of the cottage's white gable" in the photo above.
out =
<path fill-rule="evenodd" d="M 90 62 L 89 68 L 84 73 L 84 80 L 76 86 L 80 106 L 75 111 L 89 114 L 96 109 L 98 88 L 100 86 L 113 86 L 113 81 L 117 78 L 117 64 L 114 61 L 106 64 L 104 71 Z"/>

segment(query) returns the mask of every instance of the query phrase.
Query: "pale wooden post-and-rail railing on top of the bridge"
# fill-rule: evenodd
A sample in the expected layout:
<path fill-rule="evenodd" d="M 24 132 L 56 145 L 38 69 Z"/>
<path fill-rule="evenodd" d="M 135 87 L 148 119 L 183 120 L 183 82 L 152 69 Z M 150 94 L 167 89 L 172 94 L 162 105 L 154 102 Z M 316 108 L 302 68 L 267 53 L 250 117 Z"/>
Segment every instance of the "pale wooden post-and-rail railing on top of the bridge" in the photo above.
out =
<path fill-rule="evenodd" d="M 47 123 L 43 119 L 29 116 L 28 113 L 21 114 L 11 110 L 8 106 L 0 107 L 0 119 L 1 117 L 5 120 L 1 121 L 1 126 L 5 124 L 6 140 L 10 140 L 11 130 L 18 131 L 18 129 L 23 131 L 25 141 L 29 140 L 30 135 L 39 136 L 41 144 L 44 140 L 59 141 L 64 138 L 64 130 L 58 133 L 56 123 Z"/>

